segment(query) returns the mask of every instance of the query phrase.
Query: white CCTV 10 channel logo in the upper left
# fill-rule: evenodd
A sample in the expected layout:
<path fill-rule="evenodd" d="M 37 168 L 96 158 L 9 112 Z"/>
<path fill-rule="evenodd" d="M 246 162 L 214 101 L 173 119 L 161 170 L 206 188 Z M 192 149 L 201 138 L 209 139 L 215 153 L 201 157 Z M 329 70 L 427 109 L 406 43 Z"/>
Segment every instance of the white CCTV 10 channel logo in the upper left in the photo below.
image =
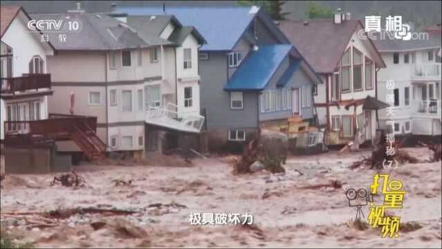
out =
<path fill-rule="evenodd" d="M 30 20 L 28 21 L 28 28 L 31 31 L 48 32 L 79 32 L 82 30 L 83 24 L 79 20 Z"/>

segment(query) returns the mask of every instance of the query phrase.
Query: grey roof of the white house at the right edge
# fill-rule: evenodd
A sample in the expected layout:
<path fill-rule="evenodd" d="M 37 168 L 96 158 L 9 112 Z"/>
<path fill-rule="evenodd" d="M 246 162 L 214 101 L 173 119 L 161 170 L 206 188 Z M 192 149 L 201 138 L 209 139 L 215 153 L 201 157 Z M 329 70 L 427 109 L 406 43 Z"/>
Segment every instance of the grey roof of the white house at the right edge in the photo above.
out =
<path fill-rule="evenodd" d="M 385 35 L 385 39 L 374 39 L 373 42 L 380 52 L 403 52 L 412 50 L 421 50 L 427 48 L 441 48 L 441 35 L 429 34 L 428 39 L 389 39 Z M 376 34 L 380 38 L 380 35 Z"/>

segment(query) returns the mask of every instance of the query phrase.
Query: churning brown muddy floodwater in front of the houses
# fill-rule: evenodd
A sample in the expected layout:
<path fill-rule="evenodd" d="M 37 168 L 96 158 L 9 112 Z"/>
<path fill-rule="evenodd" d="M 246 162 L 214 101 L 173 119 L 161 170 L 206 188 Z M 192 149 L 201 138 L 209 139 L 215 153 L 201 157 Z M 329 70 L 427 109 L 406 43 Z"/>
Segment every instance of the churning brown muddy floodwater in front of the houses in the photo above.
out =
<path fill-rule="evenodd" d="M 406 150 L 422 161 L 432 154 L 425 148 Z M 76 190 L 50 187 L 55 174 L 7 175 L 1 182 L 2 232 L 8 230 L 17 242 L 36 247 L 441 248 L 441 162 L 404 164 L 383 171 L 402 181 L 407 191 L 403 210 L 394 214 L 422 228 L 400 232 L 398 239 L 383 239 L 380 230 L 358 230 L 349 223 L 356 208 L 349 208 L 345 190 L 368 190 L 376 172 L 347 167 L 369 154 L 367 150 L 341 156 L 336 151 L 291 156 L 284 165 L 286 175 L 279 177 L 266 172 L 234 175 L 234 156 L 196 159 L 192 165 L 181 160 L 158 160 L 155 165 L 154 157 L 149 158 L 149 166 L 83 165 L 75 170 L 89 187 Z M 115 179 L 132 183 L 115 186 Z M 310 188 L 331 180 L 344 185 Z M 38 217 L 6 215 L 81 207 L 137 213 L 76 214 L 46 228 L 32 226 Z M 368 208 L 362 211 L 367 218 Z M 255 225 L 190 225 L 191 212 L 248 213 Z M 91 223 L 102 226 L 95 225 L 95 230 Z"/>

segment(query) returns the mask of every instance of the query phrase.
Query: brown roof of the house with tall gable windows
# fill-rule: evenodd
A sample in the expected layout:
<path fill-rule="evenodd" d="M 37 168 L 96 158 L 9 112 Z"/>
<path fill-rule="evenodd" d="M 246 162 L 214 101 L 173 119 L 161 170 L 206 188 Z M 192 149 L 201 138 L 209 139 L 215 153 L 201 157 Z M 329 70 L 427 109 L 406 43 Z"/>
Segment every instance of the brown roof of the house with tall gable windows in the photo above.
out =
<path fill-rule="evenodd" d="M 309 21 L 286 20 L 279 23 L 279 28 L 295 44 L 297 50 L 309 61 L 317 73 L 333 73 L 351 36 L 358 27 L 360 20 L 348 20 L 341 24 L 333 24 L 331 19 L 315 19 Z M 368 39 L 371 42 L 371 39 Z M 385 67 L 382 57 L 376 50 L 374 61 Z"/>

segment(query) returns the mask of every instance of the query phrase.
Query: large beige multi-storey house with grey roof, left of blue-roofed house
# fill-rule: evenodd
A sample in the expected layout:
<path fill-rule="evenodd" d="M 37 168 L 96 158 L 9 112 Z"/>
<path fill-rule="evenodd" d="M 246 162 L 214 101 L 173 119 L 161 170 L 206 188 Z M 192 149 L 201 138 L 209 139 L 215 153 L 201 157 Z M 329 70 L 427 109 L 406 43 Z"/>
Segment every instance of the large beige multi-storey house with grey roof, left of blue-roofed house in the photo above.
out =
<path fill-rule="evenodd" d="M 199 133 L 197 55 L 203 37 L 172 16 L 107 14 L 77 8 L 33 15 L 81 24 L 78 32 L 64 30 L 66 42 L 48 34 L 57 50 L 48 57 L 55 91 L 50 112 L 98 117 L 106 151 L 138 158 L 162 149 L 166 131 Z M 72 142 L 58 147 L 79 150 Z"/>

